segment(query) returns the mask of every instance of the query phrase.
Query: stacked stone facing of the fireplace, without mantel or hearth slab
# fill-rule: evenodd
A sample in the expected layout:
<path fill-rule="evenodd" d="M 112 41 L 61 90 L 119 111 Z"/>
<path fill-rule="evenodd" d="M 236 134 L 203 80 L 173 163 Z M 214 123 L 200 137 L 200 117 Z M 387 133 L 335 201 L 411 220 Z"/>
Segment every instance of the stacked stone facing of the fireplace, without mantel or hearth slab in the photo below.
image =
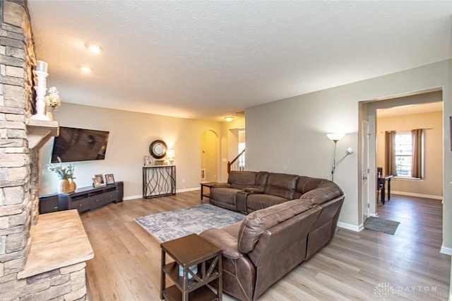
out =
<path fill-rule="evenodd" d="M 85 266 L 18 279 L 37 218 L 39 150 L 28 148 L 35 47 L 25 0 L 0 1 L 0 300 L 85 300 Z"/>

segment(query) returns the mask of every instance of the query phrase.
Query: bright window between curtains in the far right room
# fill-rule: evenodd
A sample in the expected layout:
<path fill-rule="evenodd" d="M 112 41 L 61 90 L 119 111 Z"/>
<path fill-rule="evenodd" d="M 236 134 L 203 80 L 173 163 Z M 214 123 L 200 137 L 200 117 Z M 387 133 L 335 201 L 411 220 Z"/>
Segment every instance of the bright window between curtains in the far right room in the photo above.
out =
<path fill-rule="evenodd" d="M 412 138 L 410 132 L 396 133 L 394 136 L 394 153 L 398 177 L 411 177 L 412 173 Z"/>

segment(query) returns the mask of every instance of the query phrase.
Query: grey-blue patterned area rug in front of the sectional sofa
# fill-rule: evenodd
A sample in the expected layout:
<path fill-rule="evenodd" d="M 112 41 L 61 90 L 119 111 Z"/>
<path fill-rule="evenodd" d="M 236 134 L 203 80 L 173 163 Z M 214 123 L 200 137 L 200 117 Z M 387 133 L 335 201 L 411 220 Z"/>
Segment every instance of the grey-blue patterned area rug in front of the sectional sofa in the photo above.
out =
<path fill-rule="evenodd" d="M 192 233 L 199 234 L 210 228 L 223 228 L 244 218 L 242 213 L 203 203 L 133 219 L 160 242 L 167 242 Z"/>

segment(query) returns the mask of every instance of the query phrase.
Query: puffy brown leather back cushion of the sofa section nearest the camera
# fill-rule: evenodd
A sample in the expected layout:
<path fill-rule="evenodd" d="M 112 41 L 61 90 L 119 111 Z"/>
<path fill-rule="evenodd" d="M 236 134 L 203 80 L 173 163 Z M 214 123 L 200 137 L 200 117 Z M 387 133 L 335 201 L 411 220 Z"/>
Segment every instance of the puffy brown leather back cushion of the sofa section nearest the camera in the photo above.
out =
<path fill-rule="evenodd" d="M 249 213 L 240 225 L 237 237 L 239 252 L 251 252 L 264 231 L 309 208 L 308 204 L 294 200 Z"/>

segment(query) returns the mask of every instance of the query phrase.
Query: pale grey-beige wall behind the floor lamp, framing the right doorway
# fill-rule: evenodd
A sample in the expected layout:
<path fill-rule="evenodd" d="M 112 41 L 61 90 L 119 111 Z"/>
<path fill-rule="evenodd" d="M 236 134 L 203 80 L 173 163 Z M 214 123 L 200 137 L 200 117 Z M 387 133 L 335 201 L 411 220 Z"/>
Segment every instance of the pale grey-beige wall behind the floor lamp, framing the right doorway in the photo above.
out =
<path fill-rule="evenodd" d="M 452 115 L 451 73 L 451 61 L 441 61 L 249 107 L 245 110 L 246 169 L 331 178 L 333 142 L 326 138 L 326 133 L 346 133 L 345 138 L 338 142 L 338 158 L 348 147 L 357 152 L 345 158 L 335 170 L 335 182 L 346 194 L 339 221 L 343 226 L 359 229 L 363 223 L 358 193 L 361 185 L 361 172 L 358 170 L 359 102 L 378 102 L 391 95 L 440 87 L 444 95 L 444 133 L 448 133 L 447 119 Z M 371 139 L 375 140 L 375 129 L 372 125 L 370 127 Z M 444 148 L 444 177 L 441 179 L 444 187 L 443 237 L 444 247 L 452 251 L 451 185 L 448 184 L 452 176 L 452 152 L 448 135 L 444 135 Z M 375 151 L 370 153 L 370 158 L 375 156 Z"/>

